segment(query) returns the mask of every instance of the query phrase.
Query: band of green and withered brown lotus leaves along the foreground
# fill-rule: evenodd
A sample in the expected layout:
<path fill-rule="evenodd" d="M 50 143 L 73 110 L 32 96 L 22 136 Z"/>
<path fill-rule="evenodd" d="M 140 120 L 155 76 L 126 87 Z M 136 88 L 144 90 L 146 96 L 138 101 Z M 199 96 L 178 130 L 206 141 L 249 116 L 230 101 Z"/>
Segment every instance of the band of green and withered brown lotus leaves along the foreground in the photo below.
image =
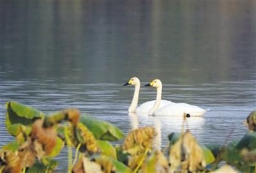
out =
<path fill-rule="evenodd" d="M 180 133 L 168 135 L 170 145 L 160 151 L 152 146 L 156 130 L 150 126 L 132 130 L 123 139 L 120 129 L 87 114 L 80 115 L 77 109 L 45 115 L 32 107 L 8 102 L 6 129 L 15 140 L 0 150 L 0 172 L 56 172 L 58 162 L 54 158 L 67 146 L 68 173 L 255 173 L 256 110 L 246 119 L 246 126 L 244 137 L 226 146 L 199 144 L 182 128 Z M 123 144 L 111 144 L 120 139 Z M 74 154 L 72 148 L 76 149 Z"/>

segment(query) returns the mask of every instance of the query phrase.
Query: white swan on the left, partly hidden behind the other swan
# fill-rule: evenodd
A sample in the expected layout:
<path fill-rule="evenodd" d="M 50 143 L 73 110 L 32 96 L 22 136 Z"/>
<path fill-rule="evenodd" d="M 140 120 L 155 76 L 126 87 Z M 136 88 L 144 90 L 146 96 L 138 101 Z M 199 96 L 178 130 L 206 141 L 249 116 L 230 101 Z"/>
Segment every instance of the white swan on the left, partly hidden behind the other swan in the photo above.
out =
<path fill-rule="evenodd" d="M 135 91 L 132 98 L 132 103 L 128 109 L 128 112 L 137 112 L 137 113 L 147 113 L 149 110 L 154 106 L 156 100 L 148 101 L 138 106 L 138 100 L 139 100 L 139 93 L 140 93 L 140 79 L 138 77 L 132 77 L 124 84 L 124 86 L 135 86 Z M 171 104 L 172 102 L 168 100 L 160 100 L 159 101 L 159 108 L 164 107 L 166 105 Z"/>

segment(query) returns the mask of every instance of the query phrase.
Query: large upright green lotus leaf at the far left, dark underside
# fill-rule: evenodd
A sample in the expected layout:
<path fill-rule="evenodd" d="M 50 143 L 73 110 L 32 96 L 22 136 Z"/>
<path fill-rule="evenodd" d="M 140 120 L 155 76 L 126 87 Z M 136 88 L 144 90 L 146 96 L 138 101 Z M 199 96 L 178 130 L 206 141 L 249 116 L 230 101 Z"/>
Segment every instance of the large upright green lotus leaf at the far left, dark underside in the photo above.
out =
<path fill-rule="evenodd" d="M 26 128 L 21 127 L 21 125 L 29 127 L 36 119 L 42 117 L 44 117 L 44 114 L 42 114 L 40 110 L 33 109 L 17 102 L 6 103 L 5 124 L 8 132 L 13 136 L 19 135 L 20 132 L 24 133 L 24 129 Z"/>

